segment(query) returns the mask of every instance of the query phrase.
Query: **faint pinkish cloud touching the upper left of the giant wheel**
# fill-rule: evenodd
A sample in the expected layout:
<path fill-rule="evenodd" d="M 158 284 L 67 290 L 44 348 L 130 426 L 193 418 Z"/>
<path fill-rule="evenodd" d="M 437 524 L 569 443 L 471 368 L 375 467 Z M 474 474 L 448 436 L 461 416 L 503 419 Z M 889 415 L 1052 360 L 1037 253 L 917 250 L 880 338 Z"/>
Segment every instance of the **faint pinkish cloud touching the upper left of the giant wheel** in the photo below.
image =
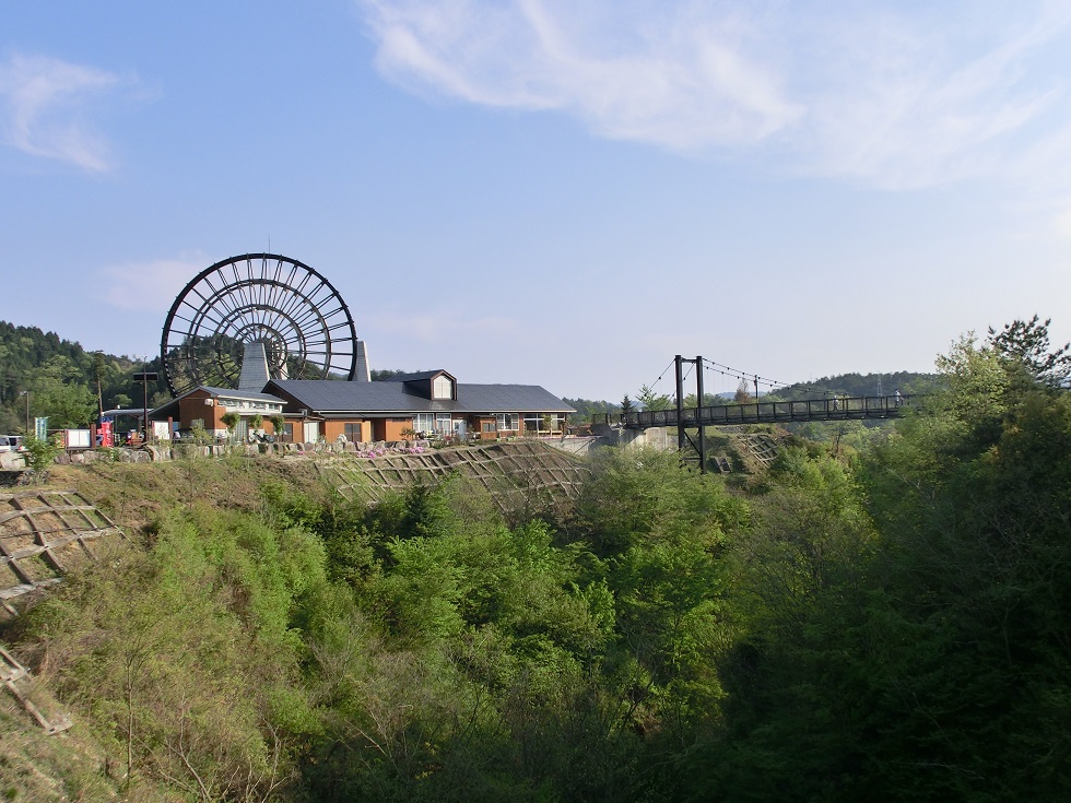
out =
<path fill-rule="evenodd" d="M 212 261 L 193 251 L 175 259 L 108 265 L 99 271 L 97 298 L 118 309 L 166 312 L 183 287 Z"/>

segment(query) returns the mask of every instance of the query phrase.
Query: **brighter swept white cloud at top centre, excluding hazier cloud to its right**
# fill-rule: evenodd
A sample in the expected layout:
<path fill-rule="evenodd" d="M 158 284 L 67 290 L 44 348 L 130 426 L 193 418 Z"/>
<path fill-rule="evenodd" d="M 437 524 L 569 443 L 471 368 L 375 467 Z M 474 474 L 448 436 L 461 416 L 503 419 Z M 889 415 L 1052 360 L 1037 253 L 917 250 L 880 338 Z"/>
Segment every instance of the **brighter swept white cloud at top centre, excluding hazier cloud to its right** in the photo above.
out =
<path fill-rule="evenodd" d="M 476 104 L 567 111 L 612 139 L 679 150 L 746 144 L 803 113 L 776 71 L 741 47 L 746 21 L 655 14 L 622 31 L 612 23 L 617 7 L 587 5 L 364 3 L 389 78 Z"/>

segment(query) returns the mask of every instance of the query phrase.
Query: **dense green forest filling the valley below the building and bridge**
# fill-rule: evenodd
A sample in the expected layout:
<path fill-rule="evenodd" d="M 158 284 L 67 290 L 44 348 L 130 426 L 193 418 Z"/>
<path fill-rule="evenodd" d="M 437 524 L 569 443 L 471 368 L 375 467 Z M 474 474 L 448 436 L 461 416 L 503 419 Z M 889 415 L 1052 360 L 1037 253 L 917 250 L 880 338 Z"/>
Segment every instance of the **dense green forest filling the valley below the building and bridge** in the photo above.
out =
<path fill-rule="evenodd" d="M 608 449 L 525 515 L 460 479 L 367 506 L 102 464 L 146 523 L 0 630 L 94 760 L 46 798 L 0 752 L 0 795 L 1063 799 L 1071 356 L 1035 318 L 937 369 L 858 448 L 752 476 Z"/>

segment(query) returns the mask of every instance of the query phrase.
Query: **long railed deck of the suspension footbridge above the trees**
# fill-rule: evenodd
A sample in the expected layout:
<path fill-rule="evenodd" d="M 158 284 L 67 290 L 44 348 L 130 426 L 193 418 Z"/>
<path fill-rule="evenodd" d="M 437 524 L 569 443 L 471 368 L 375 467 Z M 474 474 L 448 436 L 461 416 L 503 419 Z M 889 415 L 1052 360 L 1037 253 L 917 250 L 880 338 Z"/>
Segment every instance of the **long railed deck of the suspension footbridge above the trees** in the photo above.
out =
<path fill-rule="evenodd" d="M 907 397 L 861 395 L 803 401 L 751 402 L 706 408 L 685 408 L 678 420 L 675 408 L 626 413 L 621 423 L 629 429 L 654 426 L 729 426 L 732 424 L 790 424 L 807 421 L 861 421 L 898 418 L 908 406 Z"/>

